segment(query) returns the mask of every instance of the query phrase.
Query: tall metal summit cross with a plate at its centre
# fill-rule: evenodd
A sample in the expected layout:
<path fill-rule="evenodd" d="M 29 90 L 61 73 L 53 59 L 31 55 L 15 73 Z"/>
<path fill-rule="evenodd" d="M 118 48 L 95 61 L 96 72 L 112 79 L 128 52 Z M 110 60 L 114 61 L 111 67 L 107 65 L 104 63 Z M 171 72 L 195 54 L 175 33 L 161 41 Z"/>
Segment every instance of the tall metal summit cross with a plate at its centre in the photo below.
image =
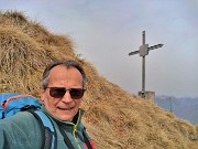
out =
<path fill-rule="evenodd" d="M 162 47 L 164 44 L 156 44 L 153 46 L 148 46 L 148 44 L 145 44 L 145 31 L 142 32 L 142 45 L 138 51 L 130 52 L 129 56 L 140 53 L 140 56 L 142 56 L 142 91 L 141 96 L 142 98 L 145 98 L 145 56 L 148 55 L 148 51 L 155 50 L 158 47 Z"/>

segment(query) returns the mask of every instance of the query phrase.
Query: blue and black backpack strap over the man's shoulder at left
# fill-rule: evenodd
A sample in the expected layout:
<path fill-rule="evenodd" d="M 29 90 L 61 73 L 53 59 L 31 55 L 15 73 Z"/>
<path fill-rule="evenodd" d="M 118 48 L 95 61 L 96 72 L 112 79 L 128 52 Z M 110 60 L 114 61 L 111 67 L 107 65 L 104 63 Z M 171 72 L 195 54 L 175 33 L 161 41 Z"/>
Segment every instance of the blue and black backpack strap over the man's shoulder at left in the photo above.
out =
<path fill-rule="evenodd" d="M 42 149 L 56 149 L 57 148 L 57 136 L 52 120 L 42 110 L 30 111 L 38 121 L 42 129 Z"/>

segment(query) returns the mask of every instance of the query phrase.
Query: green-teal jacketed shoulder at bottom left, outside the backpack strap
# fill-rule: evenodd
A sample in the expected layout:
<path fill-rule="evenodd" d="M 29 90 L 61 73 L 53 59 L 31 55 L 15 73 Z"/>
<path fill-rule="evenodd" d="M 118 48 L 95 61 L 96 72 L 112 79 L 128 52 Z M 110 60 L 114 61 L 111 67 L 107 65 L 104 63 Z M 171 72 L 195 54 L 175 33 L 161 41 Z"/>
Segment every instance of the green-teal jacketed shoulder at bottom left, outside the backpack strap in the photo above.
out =
<path fill-rule="evenodd" d="M 19 111 L 11 117 L 1 119 L 0 140 L 4 142 L 3 146 L 6 147 L 15 146 L 21 149 L 41 147 L 41 128 L 38 121 L 29 111 Z"/>

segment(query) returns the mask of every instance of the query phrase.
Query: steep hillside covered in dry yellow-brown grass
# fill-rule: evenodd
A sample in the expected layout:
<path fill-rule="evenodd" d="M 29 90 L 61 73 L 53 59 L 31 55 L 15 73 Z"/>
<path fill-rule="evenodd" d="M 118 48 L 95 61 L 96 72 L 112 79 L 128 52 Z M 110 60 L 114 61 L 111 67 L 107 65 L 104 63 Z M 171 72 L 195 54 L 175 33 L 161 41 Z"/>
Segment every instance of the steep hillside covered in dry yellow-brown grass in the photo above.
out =
<path fill-rule="evenodd" d="M 68 36 L 21 12 L 0 12 L 0 92 L 37 96 L 43 68 L 58 58 L 76 60 L 87 72 L 82 120 L 97 149 L 198 149 L 198 127 L 108 82 L 75 54 Z"/>

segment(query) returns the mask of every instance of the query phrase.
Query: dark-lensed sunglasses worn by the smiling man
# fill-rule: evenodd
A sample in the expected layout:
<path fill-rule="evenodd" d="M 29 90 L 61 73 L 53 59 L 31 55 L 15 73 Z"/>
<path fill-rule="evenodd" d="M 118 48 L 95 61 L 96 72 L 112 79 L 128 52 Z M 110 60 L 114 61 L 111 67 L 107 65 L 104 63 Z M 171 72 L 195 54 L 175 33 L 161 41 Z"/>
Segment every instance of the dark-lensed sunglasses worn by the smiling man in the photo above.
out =
<path fill-rule="evenodd" d="M 86 89 L 82 88 L 65 88 L 65 87 L 46 87 L 50 88 L 50 95 L 54 98 L 63 98 L 65 93 L 69 91 L 73 99 L 80 99 L 84 96 Z"/>

